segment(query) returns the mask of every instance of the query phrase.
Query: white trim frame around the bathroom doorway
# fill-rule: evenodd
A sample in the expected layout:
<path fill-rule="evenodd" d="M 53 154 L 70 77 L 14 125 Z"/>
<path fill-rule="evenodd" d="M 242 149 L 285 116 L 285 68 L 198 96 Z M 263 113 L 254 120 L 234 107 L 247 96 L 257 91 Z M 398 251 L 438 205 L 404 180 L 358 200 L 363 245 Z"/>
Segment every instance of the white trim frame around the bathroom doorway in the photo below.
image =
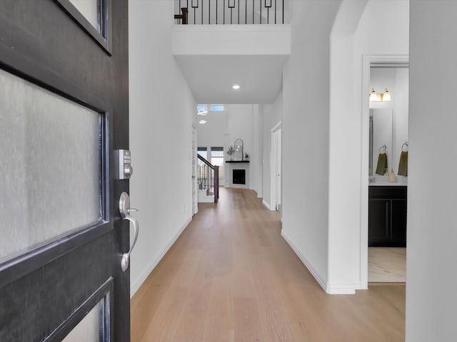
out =
<path fill-rule="evenodd" d="M 362 134 L 361 134 L 361 229 L 359 271 L 361 289 L 368 289 L 368 162 L 370 137 L 370 68 L 373 63 L 409 63 L 409 55 L 364 55 L 362 69 Z M 408 247 L 408 246 L 406 246 Z"/>

